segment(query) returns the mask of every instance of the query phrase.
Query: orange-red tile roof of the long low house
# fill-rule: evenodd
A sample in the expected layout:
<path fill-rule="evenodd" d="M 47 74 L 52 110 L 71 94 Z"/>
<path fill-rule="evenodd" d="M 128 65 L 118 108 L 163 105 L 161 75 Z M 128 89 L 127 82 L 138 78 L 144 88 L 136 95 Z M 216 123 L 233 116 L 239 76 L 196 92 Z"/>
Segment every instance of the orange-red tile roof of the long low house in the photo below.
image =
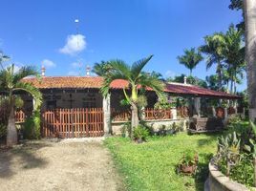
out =
<path fill-rule="evenodd" d="M 53 76 L 42 77 L 39 81 L 36 78 L 25 78 L 26 82 L 32 83 L 38 89 L 58 89 L 58 88 L 95 88 L 99 89 L 102 85 L 103 78 L 99 76 Z M 127 87 L 128 82 L 117 79 L 111 83 L 112 89 L 122 89 Z M 150 90 L 150 89 L 149 89 Z M 177 95 L 194 95 L 194 96 L 216 96 L 223 98 L 240 98 L 240 96 L 230 95 L 224 92 L 217 92 L 198 86 L 181 83 L 167 83 L 165 92 Z"/>

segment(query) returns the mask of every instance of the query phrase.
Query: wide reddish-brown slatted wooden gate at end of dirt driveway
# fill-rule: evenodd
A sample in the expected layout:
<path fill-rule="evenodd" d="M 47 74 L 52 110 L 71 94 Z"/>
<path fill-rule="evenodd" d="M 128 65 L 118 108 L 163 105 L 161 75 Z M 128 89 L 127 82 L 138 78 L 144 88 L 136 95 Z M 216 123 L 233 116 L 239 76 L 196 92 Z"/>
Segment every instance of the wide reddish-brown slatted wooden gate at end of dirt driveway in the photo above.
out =
<path fill-rule="evenodd" d="M 42 112 L 45 138 L 84 138 L 104 135 L 102 108 L 54 109 Z"/>

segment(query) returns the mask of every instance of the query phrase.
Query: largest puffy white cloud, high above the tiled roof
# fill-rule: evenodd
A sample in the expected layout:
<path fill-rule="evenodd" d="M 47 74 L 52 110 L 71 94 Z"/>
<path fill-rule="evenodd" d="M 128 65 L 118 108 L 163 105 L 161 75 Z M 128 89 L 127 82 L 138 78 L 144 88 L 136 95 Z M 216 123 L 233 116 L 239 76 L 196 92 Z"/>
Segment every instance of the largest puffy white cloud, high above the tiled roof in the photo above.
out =
<path fill-rule="evenodd" d="M 68 35 L 65 46 L 59 49 L 59 52 L 74 55 L 75 53 L 82 52 L 84 49 L 86 49 L 85 36 L 82 34 L 71 34 Z"/>

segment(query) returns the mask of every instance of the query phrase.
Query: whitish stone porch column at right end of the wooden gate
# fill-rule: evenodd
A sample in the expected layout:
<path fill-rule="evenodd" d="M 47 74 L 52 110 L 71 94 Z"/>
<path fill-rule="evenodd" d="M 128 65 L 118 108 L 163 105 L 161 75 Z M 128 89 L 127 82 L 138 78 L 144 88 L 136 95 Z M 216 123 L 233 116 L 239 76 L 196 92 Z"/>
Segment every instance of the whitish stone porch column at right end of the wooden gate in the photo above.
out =
<path fill-rule="evenodd" d="M 103 96 L 103 122 L 104 122 L 104 134 L 110 135 L 111 132 L 111 111 L 110 111 L 110 94 L 106 97 Z"/>

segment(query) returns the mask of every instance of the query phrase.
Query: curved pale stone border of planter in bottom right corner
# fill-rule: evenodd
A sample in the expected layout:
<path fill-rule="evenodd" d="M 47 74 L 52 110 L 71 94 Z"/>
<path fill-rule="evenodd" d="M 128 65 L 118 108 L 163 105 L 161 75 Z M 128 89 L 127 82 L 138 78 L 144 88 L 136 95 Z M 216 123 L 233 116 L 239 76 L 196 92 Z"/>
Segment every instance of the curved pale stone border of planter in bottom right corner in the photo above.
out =
<path fill-rule="evenodd" d="M 209 162 L 208 188 L 210 191 L 249 191 L 249 189 L 236 181 L 230 180 L 218 170 L 213 159 Z"/>

